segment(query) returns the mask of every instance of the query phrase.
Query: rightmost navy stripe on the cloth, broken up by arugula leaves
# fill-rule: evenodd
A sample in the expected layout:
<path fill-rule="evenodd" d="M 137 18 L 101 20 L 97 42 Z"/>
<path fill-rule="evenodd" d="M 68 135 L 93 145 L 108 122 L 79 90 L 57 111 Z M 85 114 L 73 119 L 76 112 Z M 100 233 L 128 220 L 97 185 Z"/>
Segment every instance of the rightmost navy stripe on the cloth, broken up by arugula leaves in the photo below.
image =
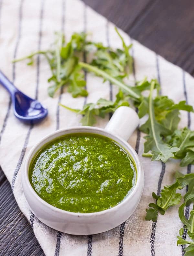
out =
<path fill-rule="evenodd" d="M 184 71 L 183 71 L 183 90 L 184 90 L 184 96 L 185 96 L 186 103 L 188 104 L 187 87 L 186 87 L 185 72 Z M 190 112 L 188 112 L 188 123 L 187 123 L 187 126 L 190 129 L 190 126 L 191 126 L 191 115 L 190 115 Z M 187 173 L 190 173 L 190 172 L 191 172 L 191 165 L 189 164 L 187 166 Z M 188 191 L 188 186 L 186 188 L 186 191 Z M 186 206 L 186 208 L 185 208 L 185 217 L 187 219 L 189 219 L 189 211 L 190 211 L 190 207 Z M 184 228 L 184 232 L 183 232 L 182 238 L 186 239 L 186 236 L 187 236 L 187 229 Z M 182 253 L 181 255 L 182 256 L 185 255 L 184 249 L 185 249 L 185 245 L 181 245 L 181 253 Z"/>

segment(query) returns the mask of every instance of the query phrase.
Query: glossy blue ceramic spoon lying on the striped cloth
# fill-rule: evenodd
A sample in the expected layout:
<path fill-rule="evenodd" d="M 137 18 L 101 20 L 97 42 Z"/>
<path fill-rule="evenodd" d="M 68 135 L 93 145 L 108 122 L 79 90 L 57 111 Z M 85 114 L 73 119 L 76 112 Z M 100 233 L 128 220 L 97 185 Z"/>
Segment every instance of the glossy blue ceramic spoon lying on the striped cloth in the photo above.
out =
<path fill-rule="evenodd" d="M 36 99 L 31 99 L 19 91 L 9 79 L 0 71 L 0 84 L 10 93 L 14 115 L 22 122 L 37 123 L 42 121 L 48 114 Z"/>

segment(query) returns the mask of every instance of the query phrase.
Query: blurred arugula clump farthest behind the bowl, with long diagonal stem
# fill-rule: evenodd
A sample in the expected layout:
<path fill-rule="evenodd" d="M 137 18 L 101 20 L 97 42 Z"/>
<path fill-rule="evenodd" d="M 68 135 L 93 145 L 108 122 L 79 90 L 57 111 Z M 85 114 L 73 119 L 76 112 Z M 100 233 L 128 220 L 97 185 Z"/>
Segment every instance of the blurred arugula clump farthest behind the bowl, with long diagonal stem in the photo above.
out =
<path fill-rule="evenodd" d="M 131 45 L 126 46 L 118 30 L 116 28 L 115 30 L 122 40 L 124 50 L 113 50 L 103 46 L 102 43 L 87 41 L 87 34 L 83 32 L 73 33 L 69 42 L 65 41 L 65 36 L 62 33 L 56 33 L 56 39 L 51 49 L 34 52 L 24 58 L 14 60 L 14 62 L 29 59 L 28 64 L 31 65 L 35 55 L 43 54 L 52 73 L 48 79 L 48 82 L 52 83 L 48 87 L 50 97 L 53 97 L 55 92 L 64 85 L 68 86 L 68 91 L 73 97 L 87 96 L 83 74 L 83 69 L 86 69 L 138 99 L 140 95 L 123 81 L 128 74 L 127 68 L 131 70 L 132 67 L 132 57 L 129 54 Z M 92 61 L 90 64 L 84 63 L 82 56 L 89 52 L 92 53 Z"/>

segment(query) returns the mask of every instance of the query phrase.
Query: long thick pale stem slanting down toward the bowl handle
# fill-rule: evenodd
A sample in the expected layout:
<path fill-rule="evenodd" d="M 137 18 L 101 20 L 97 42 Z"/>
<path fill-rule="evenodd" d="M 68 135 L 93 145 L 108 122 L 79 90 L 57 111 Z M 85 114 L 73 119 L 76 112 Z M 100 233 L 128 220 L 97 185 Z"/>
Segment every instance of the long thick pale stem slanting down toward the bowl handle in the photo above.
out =
<path fill-rule="evenodd" d="M 90 72 L 93 72 L 97 76 L 102 76 L 104 79 L 110 81 L 112 84 L 115 84 L 118 87 L 124 89 L 125 91 L 127 91 L 135 99 L 139 99 L 140 98 L 140 96 L 137 93 L 135 93 L 130 87 L 128 87 L 124 83 L 118 81 L 116 78 L 108 75 L 106 72 L 102 71 L 101 69 L 99 69 L 99 68 L 97 68 L 95 66 L 92 66 L 90 64 L 84 63 L 84 62 L 79 62 L 79 65 L 80 65 L 80 67 L 85 68 L 85 69 L 87 69 Z"/>

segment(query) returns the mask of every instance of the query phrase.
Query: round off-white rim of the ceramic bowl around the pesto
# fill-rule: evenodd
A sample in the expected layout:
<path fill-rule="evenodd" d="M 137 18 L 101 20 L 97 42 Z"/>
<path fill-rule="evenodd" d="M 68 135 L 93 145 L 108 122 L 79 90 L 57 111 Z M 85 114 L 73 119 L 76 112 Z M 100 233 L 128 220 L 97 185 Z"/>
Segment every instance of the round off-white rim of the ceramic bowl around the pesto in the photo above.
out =
<path fill-rule="evenodd" d="M 29 164 L 32 160 L 32 157 L 34 156 L 34 154 L 38 151 L 39 148 L 41 148 L 44 144 L 46 143 L 49 143 L 49 141 L 52 141 L 54 140 L 56 137 L 50 139 L 48 142 L 45 142 L 42 146 L 40 146 L 38 148 L 38 146 L 43 143 L 45 140 L 49 139 L 49 137 L 53 136 L 53 135 L 56 135 L 56 134 L 59 134 L 59 133 L 62 133 L 62 132 L 68 132 L 66 134 L 71 134 L 71 133 L 79 133 L 78 132 L 73 132 L 74 130 L 93 130 L 93 131 L 96 131 L 96 134 L 99 134 L 98 132 L 102 132 L 102 133 L 105 133 L 106 135 L 103 135 L 103 134 L 100 134 L 102 136 L 105 136 L 105 137 L 108 137 L 110 138 L 108 135 L 111 135 L 113 137 L 110 138 L 114 141 L 116 141 L 119 145 L 121 145 L 121 143 L 119 143 L 119 140 L 122 142 L 122 144 L 124 144 L 125 146 L 121 145 L 121 147 L 123 147 L 127 153 L 132 157 L 132 159 L 134 160 L 135 162 L 135 165 L 136 165 L 136 182 L 135 182 L 135 185 L 134 187 L 132 187 L 132 190 L 131 192 L 129 192 L 128 195 L 126 195 L 124 197 L 124 199 L 117 205 L 111 207 L 111 208 L 108 208 L 108 209 L 105 209 L 103 211 L 99 211 L 99 212 L 92 212 L 92 213 L 77 213 L 77 212 L 70 212 L 70 211 L 66 211 L 66 210 L 63 210 L 63 209 L 60 209 L 60 208 L 57 208 L 49 203 L 47 203 L 45 200 L 43 200 L 37 193 L 36 191 L 33 189 L 30 181 L 29 181 L 29 175 L 28 175 L 28 170 L 29 170 Z M 83 131 L 81 131 L 80 133 L 84 133 Z M 87 131 L 86 131 L 87 133 Z M 64 134 L 64 135 L 66 135 Z M 94 133 L 95 134 L 95 133 Z M 59 136 L 62 136 L 62 135 L 59 135 Z M 38 148 L 38 149 L 37 149 Z M 29 159 L 31 158 L 31 160 L 29 161 Z M 54 131 L 48 135 L 46 135 L 45 137 L 43 137 L 36 145 L 34 145 L 32 147 L 32 149 L 30 150 L 30 152 L 28 153 L 28 156 L 26 158 L 26 162 L 25 162 L 25 167 L 24 167 L 24 172 L 23 172 L 23 175 L 25 175 L 25 180 L 27 180 L 27 185 L 28 187 L 30 188 L 33 196 L 35 196 L 35 198 L 42 204 L 44 204 L 46 207 L 50 208 L 50 210 L 53 210 L 53 211 L 57 211 L 59 213 L 66 213 L 68 215 L 73 215 L 73 216 L 92 216 L 92 215 L 103 215 L 107 212 L 111 212 L 111 211 L 115 211 L 117 208 L 121 207 L 123 204 L 126 204 L 127 201 L 130 200 L 130 198 L 132 198 L 133 196 L 135 196 L 135 193 L 136 191 L 139 189 L 139 183 L 140 183 L 140 180 L 141 180 L 141 175 L 143 175 L 143 168 L 141 166 L 141 163 L 139 161 L 139 157 L 137 155 L 137 153 L 135 152 L 135 150 L 133 149 L 133 147 L 127 142 L 125 141 L 122 137 L 120 136 L 117 136 L 113 133 L 110 133 L 109 131 L 106 131 L 105 129 L 102 129 L 102 128 L 98 128 L 98 127 L 92 127 L 92 126 L 74 126 L 74 127 L 70 127 L 70 128 L 65 128 L 65 129 L 60 129 L 60 130 L 57 130 L 57 131 Z M 25 194 L 24 194 L 25 195 Z M 25 196 L 26 197 L 26 196 Z"/>

